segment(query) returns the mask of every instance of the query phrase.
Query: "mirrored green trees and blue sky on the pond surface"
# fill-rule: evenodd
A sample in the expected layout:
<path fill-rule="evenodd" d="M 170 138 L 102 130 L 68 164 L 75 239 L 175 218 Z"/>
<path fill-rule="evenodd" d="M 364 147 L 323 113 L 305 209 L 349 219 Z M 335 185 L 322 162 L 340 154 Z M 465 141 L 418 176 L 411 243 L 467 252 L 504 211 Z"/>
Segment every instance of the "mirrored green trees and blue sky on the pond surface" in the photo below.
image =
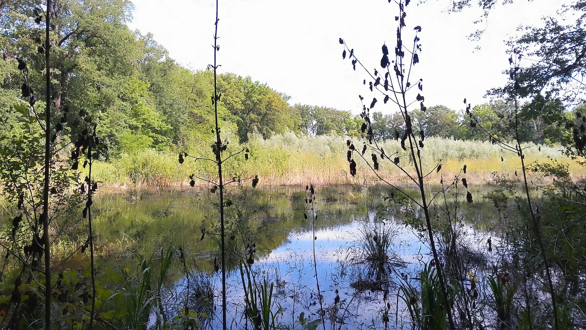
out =
<path fill-rule="evenodd" d="M 368 194 L 356 188 L 338 188 L 320 197 L 318 189 L 316 208 L 315 260 L 321 292 L 317 292 L 314 269 L 314 234 L 311 215 L 305 220 L 303 212 L 304 188 L 237 191 L 233 196 L 246 211 L 236 213 L 246 221 L 246 238 L 256 246 L 255 260 L 251 269 L 259 283 L 263 278 L 274 282 L 274 312 L 280 313 L 282 324 L 293 325 L 299 313 L 312 319 L 324 318 L 326 328 L 366 329 L 383 328 L 381 314 L 387 304 L 392 305 L 396 319 L 390 326 L 408 326 L 408 312 L 404 303 L 389 290 L 399 282 L 403 274 L 416 274 L 420 262 L 430 259 L 430 248 L 425 234 L 404 224 L 400 212 L 391 210 L 388 201 L 380 198 L 384 191 Z M 492 207 L 481 201 L 476 192 L 473 207 L 462 204 L 459 215 L 473 219 L 466 224 L 464 234 L 471 246 L 481 249 L 486 234 L 479 230 L 491 230 L 494 217 Z M 100 241 L 132 240 L 133 249 L 150 255 L 159 247 L 183 247 L 190 263 L 190 274 L 208 274 L 213 288 L 215 313 L 208 326 L 221 328 L 219 303 L 222 287 L 219 274 L 213 272 L 214 258 L 219 254 L 217 241 L 207 235 L 200 240 L 202 229 L 214 230 L 218 217 L 214 203 L 216 196 L 207 191 L 180 191 L 158 194 L 103 194 L 96 201 L 96 228 Z M 327 200 L 327 201 L 326 201 Z M 439 206 L 438 206 L 439 207 Z M 359 237 L 364 224 L 385 221 L 394 231 L 391 249 L 404 262 L 384 274 L 387 285 L 383 290 L 357 290 L 352 284 L 369 277 L 368 265 L 357 264 L 360 250 Z M 490 234 L 488 234 L 490 235 Z M 244 235 L 243 235 L 244 236 Z M 239 241 L 240 237 L 234 238 Z M 244 328 L 244 288 L 240 274 L 239 256 L 244 254 L 235 246 L 233 262 L 227 277 L 227 314 L 231 328 Z M 246 258 L 242 259 L 246 260 Z M 199 271 L 196 271 L 199 270 Z M 180 305 L 181 294 L 186 294 L 188 281 L 185 272 L 176 272 L 169 288 L 179 294 L 169 294 Z M 183 275 L 181 275 L 183 274 Z M 370 274 L 372 275 L 372 274 Z M 371 276 L 372 277 L 372 276 Z M 375 276 L 383 280 L 383 276 Z M 200 281 L 202 278 L 200 278 Z M 192 283 L 195 278 L 192 278 Z M 191 289 L 191 305 L 202 304 Z M 195 297 L 195 298 L 193 298 Z M 319 298 L 322 297 L 322 304 Z M 184 299 L 183 299 L 184 300 Z M 208 301 L 209 302 L 209 301 Z M 171 302 L 169 302 L 171 304 Z M 321 309 L 323 306 L 323 310 Z M 201 307 L 200 307 L 201 308 Z M 220 316 L 221 318 L 221 316 Z"/>

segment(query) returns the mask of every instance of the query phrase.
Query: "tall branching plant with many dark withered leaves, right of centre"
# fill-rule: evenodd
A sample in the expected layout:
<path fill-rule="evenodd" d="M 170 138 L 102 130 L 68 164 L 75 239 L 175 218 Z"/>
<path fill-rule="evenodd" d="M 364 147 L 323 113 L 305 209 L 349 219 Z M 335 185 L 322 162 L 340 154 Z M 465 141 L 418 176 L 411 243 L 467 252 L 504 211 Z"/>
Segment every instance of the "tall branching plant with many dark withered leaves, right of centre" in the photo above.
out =
<path fill-rule="evenodd" d="M 356 161 L 354 158 L 357 156 L 368 164 L 373 173 L 376 174 L 376 176 L 381 181 L 389 184 L 389 186 L 393 187 L 394 190 L 398 191 L 398 193 L 406 196 L 411 200 L 411 202 L 416 204 L 423 211 L 425 228 L 427 230 L 427 237 L 430 242 L 433 263 L 440 284 L 440 291 L 442 295 L 441 301 L 444 305 L 445 311 L 447 312 L 448 326 L 450 329 L 455 329 L 454 320 L 452 318 L 451 305 L 449 303 L 448 297 L 448 285 L 441 266 L 440 257 L 438 257 L 434 232 L 431 225 L 430 206 L 439 193 L 430 197 L 428 196 L 428 193 L 425 189 L 425 181 L 427 178 L 431 175 L 434 175 L 435 173 L 439 173 L 441 171 L 442 164 L 440 160 L 437 164 L 435 164 L 434 167 L 432 167 L 432 169 L 425 169 L 424 162 L 422 160 L 422 153 L 424 152 L 425 147 L 424 131 L 423 129 L 417 131 L 417 129 L 414 127 L 414 123 L 412 122 L 410 115 L 411 110 L 409 109 L 415 102 L 419 103 L 421 111 L 425 112 L 427 109 L 424 106 L 425 97 L 421 95 L 421 92 L 423 91 L 423 79 L 419 79 L 415 85 L 415 83 L 413 83 L 413 78 L 411 77 L 411 70 L 419 62 L 419 55 L 421 53 L 420 38 L 417 34 L 417 32 L 421 31 L 421 26 L 414 27 L 415 36 L 413 46 L 408 48 L 404 41 L 406 41 L 405 36 L 407 35 L 405 30 L 407 27 L 406 8 L 410 3 L 410 0 L 399 0 L 396 1 L 396 3 L 398 5 L 398 15 L 394 16 L 394 20 L 398 22 L 396 30 L 396 46 L 394 48 L 394 52 L 393 50 L 390 52 L 387 45 L 382 46 L 383 54 L 380 60 L 380 68 L 383 70 L 383 72 L 379 72 L 377 69 L 374 69 L 373 72 L 371 72 L 370 70 L 366 69 L 363 63 L 360 62 L 360 60 L 356 57 L 354 49 L 350 48 L 342 38 L 339 39 L 339 42 L 344 47 L 342 58 L 345 59 L 346 55 L 348 55 L 349 60 L 352 62 L 353 69 L 356 70 L 356 65 L 361 66 L 368 73 L 369 80 L 372 79 L 368 84 L 370 90 L 374 92 L 376 89 L 378 92 L 380 92 L 384 96 L 383 103 L 386 104 L 387 102 L 390 102 L 397 107 L 398 112 L 400 112 L 401 116 L 403 117 L 403 126 L 396 127 L 394 137 L 395 140 L 400 140 L 401 149 L 406 152 L 400 153 L 397 151 L 392 154 L 387 154 L 383 150 L 383 147 L 377 143 L 377 139 L 373 132 L 373 125 L 370 120 L 370 110 L 373 109 L 378 102 L 376 97 L 373 97 L 372 102 L 370 102 L 370 106 L 367 107 L 363 103 L 363 111 L 361 113 L 361 117 L 364 120 L 361 127 L 361 132 L 366 141 L 363 142 L 362 150 L 357 150 L 352 140 L 348 140 L 347 160 L 349 162 L 350 174 L 352 174 L 352 176 L 356 176 Z M 366 83 L 367 80 L 364 79 L 364 85 L 366 85 Z M 417 86 L 416 90 L 418 90 L 418 93 L 415 97 L 415 100 L 412 100 L 409 96 L 411 93 L 413 93 L 415 86 Z M 364 97 L 360 96 L 360 100 L 364 102 Z M 367 151 L 370 153 L 370 159 L 367 159 L 365 156 Z M 402 162 L 401 157 L 403 158 Z M 387 160 L 390 164 L 396 166 L 398 170 L 403 172 L 408 180 L 415 184 L 419 192 L 419 196 L 417 198 L 411 197 L 402 188 L 396 186 L 381 176 L 379 173 L 379 161 L 383 160 Z M 447 190 L 454 187 L 457 180 L 458 178 L 456 177 L 452 183 L 448 184 L 442 190 Z M 472 203 L 471 193 L 467 193 L 467 198 L 468 201 Z"/>

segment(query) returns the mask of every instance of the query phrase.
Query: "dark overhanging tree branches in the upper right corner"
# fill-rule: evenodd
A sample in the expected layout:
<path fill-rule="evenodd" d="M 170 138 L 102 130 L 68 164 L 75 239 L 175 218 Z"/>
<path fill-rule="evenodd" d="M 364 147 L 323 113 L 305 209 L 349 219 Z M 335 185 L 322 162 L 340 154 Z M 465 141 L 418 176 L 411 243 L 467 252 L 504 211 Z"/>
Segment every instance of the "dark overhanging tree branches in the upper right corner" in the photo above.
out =
<path fill-rule="evenodd" d="M 485 18 L 496 5 L 512 2 L 450 0 L 450 5 L 456 12 L 466 6 L 478 6 L 483 9 Z M 543 18 L 541 26 L 520 28 L 522 33 L 507 42 L 512 53 L 511 61 L 520 59 L 522 63 L 515 72 L 519 82 L 516 92 L 520 97 L 533 98 L 539 93 L 551 93 L 554 97 L 566 96 L 565 100 L 575 100 L 577 89 L 574 87 L 581 85 L 581 76 L 586 73 L 586 1 L 567 1 L 558 14 L 559 17 L 552 15 Z M 477 37 L 481 34 L 482 31 L 473 33 Z M 492 93 L 503 96 L 511 95 L 513 91 L 515 83 L 511 81 L 505 87 L 492 90 Z"/>

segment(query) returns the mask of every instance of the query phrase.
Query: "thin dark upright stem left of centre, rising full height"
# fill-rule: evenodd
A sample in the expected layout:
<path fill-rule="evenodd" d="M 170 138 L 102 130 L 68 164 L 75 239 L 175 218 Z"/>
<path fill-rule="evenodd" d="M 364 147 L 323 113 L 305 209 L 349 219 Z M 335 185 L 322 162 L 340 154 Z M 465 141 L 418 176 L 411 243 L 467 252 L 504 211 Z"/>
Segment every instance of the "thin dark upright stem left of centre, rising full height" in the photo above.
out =
<path fill-rule="evenodd" d="M 216 119 L 216 163 L 218 164 L 218 179 L 220 188 L 220 248 L 222 249 L 222 326 L 226 330 L 226 230 L 224 228 L 224 182 L 222 178 L 222 139 L 218 124 L 218 94 L 217 94 L 217 49 L 218 49 L 218 2 L 216 0 L 216 26 L 214 32 L 214 116 Z"/>

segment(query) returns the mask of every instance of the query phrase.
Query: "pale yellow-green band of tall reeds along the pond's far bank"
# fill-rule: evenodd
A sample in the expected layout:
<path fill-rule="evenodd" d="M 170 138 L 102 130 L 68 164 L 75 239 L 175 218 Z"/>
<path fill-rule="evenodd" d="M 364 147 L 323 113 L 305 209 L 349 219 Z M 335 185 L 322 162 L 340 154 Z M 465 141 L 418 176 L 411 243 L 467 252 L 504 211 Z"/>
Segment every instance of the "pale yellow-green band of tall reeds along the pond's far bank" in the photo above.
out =
<path fill-rule="evenodd" d="M 475 178 L 475 183 L 492 182 L 492 173 L 510 173 L 513 175 L 521 164 L 517 157 L 507 154 L 499 146 L 489 142 L 451 140 L 439 137 L 425 139 L 422 152 L 424 167 L 432 168 L 442 160 L 444 177 L 460 173 L 462 164 L 468 165 L 468 176 Z M 251 154 L 248 161 L 230 161 L 226 164 L 229 176 L 248 177 L 258 175 L 262 178 L 261 186 L 302 186 L 312 182 L 318 186 L 364 185 L 378 181 L 366 164 L 358 164 L 355 178 L 350 176 L 346 161 L 346 137 L 340 136 L 296 136 L 293 133 L 272 136 L 270 139 L 253 137 L 246 145 Z M 244 147 L 230 144 L 230 148 Z M 410 156 L 403 151 L 395 140 L 384 140 L 381 147 L 389 155 L 400 157 L 401 163 L 410 161 Z M 197 150 L 192 150 L 197 154 Z M 188 152 L 190 152 L 188 150 Z M 551 162 L 562 159 L 560 148 L 541 146 L 524 150 L 526 163 L 539 161 Z M 502 160 L 501 160 L 502 157 Z M 551 158 L 551 159 L 550 159 Z M 570 166 L 573 176 L 582 174 L 582 167 L 575 161 L 563 160 Z M 404 174 L 391 164 L 381 164 L 379 171 L 389 180 L 400 183 Z M 183 166 L 177 161 L 175 153 L 145 149 L 132 154 L 122 154 L 109 162 L 94 164 L 93 176 L 97 181 L 113 188 L 157 187 L 170 189 L 187 186 L 190 174 L 196 173 L 204 179 L 212 179 L 214 168 L 205 161 L 186 161 Z M 439 177 L 433 177 L 439 183 Z M 437 182 L 436 182 L 437 181 Z M 196 184 L 207 185 L 203 181 Z M 332 195 L 333 197 L 333 195 Z"/>

